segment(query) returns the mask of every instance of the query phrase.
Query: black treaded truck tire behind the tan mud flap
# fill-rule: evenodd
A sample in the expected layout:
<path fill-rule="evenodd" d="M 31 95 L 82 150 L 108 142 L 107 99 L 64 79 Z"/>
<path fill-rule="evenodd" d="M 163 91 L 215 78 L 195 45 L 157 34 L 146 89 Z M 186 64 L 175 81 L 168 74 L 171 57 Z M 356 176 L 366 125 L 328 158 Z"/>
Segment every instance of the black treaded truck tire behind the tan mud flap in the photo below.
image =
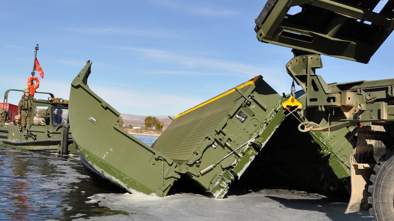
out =
<path fill-rule="evenodd" d="M 372 205 L 369 213 L 376 221 L 394 220 L 394 157 L 390 151 L 379 160 L 371 175 L 372 185 L 368 187 L 371 196 L 368 203 Z"/>

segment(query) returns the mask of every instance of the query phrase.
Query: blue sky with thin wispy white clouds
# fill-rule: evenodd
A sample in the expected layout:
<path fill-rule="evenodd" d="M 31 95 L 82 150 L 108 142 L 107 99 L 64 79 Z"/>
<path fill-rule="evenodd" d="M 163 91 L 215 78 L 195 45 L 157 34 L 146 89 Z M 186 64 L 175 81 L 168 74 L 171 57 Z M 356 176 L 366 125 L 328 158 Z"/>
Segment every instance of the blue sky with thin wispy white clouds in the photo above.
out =
<path fill-rule="evenodd" d="M 38 91 L 68 99 L 91 60 L 89 87 L 123 114 L 176 115 L 258 75 L 288 94 L 290 48 L 261 43 L 254 31 L 265 3 L 3 0 L 0 94 L 26 87 L 36 44 L 45 73 Z M 327 83 L 392 78 L 393 41 L 369 64 L 322 56 L 317 73 Z"/>

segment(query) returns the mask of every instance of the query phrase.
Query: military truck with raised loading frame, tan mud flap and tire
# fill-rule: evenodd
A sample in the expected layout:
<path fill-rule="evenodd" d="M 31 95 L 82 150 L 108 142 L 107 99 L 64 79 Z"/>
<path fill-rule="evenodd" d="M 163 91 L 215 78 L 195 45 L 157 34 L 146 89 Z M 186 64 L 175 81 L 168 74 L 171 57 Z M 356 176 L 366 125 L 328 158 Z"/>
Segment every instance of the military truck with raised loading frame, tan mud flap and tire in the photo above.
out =
<path fill-rule="evenodd" d="M 293 48 L 286 71 L 306 93 L 299 130 L 355 127 L 346 135 L 354 146 L 346 212 L 369 209 L 376 220 L 394 220 L 394 79 L 327 84 L 316 72 L 320 54 L 368 63 L 393 17 L 390 0 L 269 0 L 255 20 L 258 40 Z"/>

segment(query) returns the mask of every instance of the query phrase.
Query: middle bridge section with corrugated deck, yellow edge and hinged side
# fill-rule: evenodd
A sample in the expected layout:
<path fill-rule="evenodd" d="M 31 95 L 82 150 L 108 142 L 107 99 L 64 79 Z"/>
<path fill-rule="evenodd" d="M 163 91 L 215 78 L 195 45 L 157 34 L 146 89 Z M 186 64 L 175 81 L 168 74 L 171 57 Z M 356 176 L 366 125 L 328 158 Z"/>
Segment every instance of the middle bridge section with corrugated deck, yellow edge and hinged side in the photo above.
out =
<path fill-rule="evenodd" d="M 284 100 L 256 77 L 177 115 L 153 148 L 223 198 L 284 119 Z"/>

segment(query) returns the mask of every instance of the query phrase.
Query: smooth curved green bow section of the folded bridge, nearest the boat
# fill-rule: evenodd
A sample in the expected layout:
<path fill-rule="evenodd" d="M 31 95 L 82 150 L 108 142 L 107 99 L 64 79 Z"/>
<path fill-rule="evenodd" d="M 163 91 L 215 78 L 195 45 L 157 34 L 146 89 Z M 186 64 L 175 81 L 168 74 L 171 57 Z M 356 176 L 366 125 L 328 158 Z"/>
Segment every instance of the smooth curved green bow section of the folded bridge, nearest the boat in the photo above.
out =
<path fill-rule="evenodd" d="M 91 62 L 72 82 L 70 125 L 81 160 L 129 192 L 166 195 L 179 178 L 176 164 L 115 126 L 120 113 L 87 86 Z"/>

